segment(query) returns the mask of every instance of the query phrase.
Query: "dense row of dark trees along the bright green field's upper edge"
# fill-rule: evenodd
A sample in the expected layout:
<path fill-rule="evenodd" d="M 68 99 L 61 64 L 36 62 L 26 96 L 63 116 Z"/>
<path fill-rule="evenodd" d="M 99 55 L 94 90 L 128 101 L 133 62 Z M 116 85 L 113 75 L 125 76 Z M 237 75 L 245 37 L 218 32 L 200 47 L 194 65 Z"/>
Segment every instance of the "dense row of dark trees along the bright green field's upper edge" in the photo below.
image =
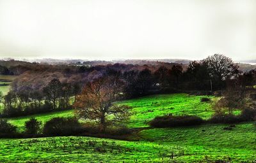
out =
<path fill-rule="evenodd" d="M 127 83 L 125 92 L 131 97 L 150 92 L 172 92 L 173 90 L 221 90 L 227 81 L 241 75 L 237 64 L 224 55 L 215 54 L 201 61 L 190 62 L 186 70 L 179 64 L 168 69 L 159 67 L 152 72 L 127 71 L 123 78 Z"/>

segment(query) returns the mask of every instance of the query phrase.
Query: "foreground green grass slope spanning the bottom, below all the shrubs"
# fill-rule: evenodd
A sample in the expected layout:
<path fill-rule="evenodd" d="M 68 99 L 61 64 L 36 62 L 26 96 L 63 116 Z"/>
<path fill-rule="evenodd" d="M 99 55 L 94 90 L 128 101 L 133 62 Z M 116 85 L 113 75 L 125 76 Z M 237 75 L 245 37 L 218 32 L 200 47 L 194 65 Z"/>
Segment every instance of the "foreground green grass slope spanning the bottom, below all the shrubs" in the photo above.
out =
<path fill-rule="evenodd" d="M 0 162 L 199 162 L 225 159 L 232 162 L 256 158 L 256 130 L 252 123 L 150 129 L 140 141 L 88 137 L 1 139 Z M 205 131 L 203 131 L 205 130 Z M 173 159 L 172 159 L 173 153 Z"/>

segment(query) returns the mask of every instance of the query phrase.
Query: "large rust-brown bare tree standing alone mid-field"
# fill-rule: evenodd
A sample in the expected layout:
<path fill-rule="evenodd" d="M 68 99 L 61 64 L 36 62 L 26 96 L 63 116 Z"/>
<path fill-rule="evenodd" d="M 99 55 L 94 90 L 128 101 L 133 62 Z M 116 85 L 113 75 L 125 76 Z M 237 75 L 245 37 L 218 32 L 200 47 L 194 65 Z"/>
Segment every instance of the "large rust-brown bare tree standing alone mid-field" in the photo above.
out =
<path fill-rule="evenodd" d="M 118 78 L 99 78 L 86 84 L 77 96 L 76 114 L 99 123 L 104 132 L 109 124 L 123 122 L 129 118 L 129 106 L 113 104 L 122 96 L 123 83 Z"/>

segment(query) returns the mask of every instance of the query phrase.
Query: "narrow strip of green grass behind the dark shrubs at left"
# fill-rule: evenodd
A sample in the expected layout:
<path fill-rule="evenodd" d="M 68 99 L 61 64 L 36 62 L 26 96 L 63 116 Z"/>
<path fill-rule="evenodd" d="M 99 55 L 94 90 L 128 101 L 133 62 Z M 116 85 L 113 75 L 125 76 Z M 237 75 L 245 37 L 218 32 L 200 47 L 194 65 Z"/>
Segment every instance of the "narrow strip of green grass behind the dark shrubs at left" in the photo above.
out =
<path fill-rule="evenodd" d="M 30 115 L 26 117 L 8 118 L 8 121 L 11 124 L 16 125 L 18 127 L 18 131 L 24 131 L 25 122 L 32 117 L 42 121 L 44 124 L 45 122 L 47 122 L 48 120 L 51 120 L 51 118 L 54 118 L 54 117 L 73 117 L 73 116 L 74 116 L 74 110 L 65 110 L 65 111 L 55 111 L 52 113 Z"/>

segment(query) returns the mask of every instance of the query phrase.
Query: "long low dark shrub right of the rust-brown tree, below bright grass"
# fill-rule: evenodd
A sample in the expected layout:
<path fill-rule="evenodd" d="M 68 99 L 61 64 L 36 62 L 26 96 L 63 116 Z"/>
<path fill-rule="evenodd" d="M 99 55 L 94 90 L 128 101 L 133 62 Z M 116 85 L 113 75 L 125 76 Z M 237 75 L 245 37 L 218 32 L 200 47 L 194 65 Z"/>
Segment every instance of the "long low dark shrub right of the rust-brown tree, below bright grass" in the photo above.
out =
<path fill-rule="evenodd" d="M 177 126 L 190 126 L 190 125 L 200 125 L 204 122 L 202 118 L 184 115 L 184 116 L 163 116 L 156 117 L 150 122 L 152 127 L 177 127 Z"/>

